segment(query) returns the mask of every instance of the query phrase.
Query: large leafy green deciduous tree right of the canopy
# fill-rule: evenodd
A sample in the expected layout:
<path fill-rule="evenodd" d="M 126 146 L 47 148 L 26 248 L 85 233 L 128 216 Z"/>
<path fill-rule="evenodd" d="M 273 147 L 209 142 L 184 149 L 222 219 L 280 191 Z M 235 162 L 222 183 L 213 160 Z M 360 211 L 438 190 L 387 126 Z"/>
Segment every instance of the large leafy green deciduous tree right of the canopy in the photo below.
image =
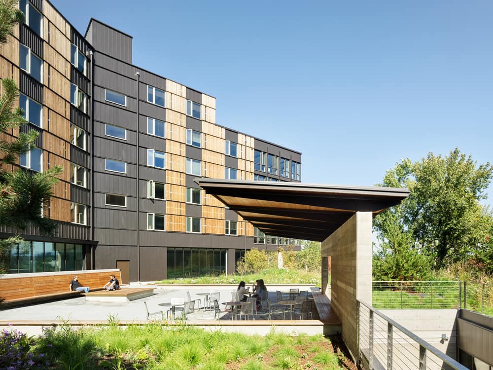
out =
<path fill-rule="evenodd" d="M 446 157 L 429 153 L 414 163 L 404 159 L 387 171 L 382 185 L 407 187 L 410 196 L 377 216 L 375 231 L 389 240 L 397 222 L 436 268 L 465 261 L 485 245 L 493 224 L 479 203 L 487 198 L 492 177 L 489 162 L 478 166 L 458 148 Z"/>

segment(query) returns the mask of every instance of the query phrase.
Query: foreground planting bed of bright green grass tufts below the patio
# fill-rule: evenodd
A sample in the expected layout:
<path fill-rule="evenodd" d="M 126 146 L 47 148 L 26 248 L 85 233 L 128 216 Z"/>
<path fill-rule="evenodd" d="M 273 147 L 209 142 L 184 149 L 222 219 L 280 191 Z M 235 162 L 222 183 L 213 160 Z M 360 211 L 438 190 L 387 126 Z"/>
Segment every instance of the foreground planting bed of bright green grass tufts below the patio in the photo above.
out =
<path fill-rule="evenodd" d="M 274 328 L 258 336 L 156 323 L 122 329 L 110 320 L 79 330 L 65 324 L 34 340 L 34 362 L 43 359 L 44 365 L 32 369 L 356 370 L 340 337 L 286 335 Z"/>

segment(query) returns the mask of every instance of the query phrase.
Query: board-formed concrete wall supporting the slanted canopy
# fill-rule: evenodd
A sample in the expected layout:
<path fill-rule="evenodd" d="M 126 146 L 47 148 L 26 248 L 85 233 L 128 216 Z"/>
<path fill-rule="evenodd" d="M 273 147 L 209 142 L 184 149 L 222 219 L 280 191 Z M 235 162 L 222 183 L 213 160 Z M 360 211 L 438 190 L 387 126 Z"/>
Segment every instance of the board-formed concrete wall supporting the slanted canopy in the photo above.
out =
<path fill-rule="evenodd" d="M 322 242 L 322 258 L 331 258 L 331 308 L 339 316 L 342 337 L 355 356 L 357 350 L 357 299 L 371 304 L 372 213 L 356 212 Z M 322 281 L 325 291 L 327 283 Z"/>

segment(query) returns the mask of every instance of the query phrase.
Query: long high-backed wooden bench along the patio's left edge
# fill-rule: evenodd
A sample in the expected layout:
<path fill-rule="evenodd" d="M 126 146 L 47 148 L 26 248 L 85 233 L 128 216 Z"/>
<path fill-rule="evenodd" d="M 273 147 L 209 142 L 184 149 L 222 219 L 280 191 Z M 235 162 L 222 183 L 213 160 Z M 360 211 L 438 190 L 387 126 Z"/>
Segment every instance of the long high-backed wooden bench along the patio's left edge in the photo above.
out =
<path fill-rule="evenodd" d="M 83 292 L 69 290 L 70 280 L 75 275 L 91 291 L 102 290 L 111 274 L 121 281 L 119 269 L 1 275 L 0 309 L 80 296 Z"/>

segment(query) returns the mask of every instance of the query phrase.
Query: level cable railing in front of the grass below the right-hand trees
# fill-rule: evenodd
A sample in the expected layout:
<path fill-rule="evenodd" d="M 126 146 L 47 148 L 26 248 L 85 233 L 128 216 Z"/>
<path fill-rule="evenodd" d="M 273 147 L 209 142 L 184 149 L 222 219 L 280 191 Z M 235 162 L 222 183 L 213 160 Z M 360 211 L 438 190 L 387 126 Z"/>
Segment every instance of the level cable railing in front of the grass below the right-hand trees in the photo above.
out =
<path fill-rule="evenodd" d="M 466 281 L 374 281 L 377 309 L 467 308 L 493 316 L 493 284 Z"/>

